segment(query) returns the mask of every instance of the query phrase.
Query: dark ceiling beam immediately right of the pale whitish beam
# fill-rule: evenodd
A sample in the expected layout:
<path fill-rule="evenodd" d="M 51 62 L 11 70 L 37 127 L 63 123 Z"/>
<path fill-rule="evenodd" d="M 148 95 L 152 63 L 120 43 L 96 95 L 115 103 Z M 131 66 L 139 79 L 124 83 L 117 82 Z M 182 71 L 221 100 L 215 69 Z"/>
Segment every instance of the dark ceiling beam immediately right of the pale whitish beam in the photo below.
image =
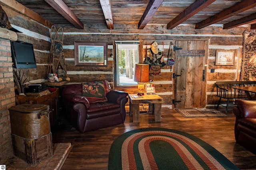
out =
<path fill-rule="evenodd" d="M 144 29 L 163 1 L 164 0 L 150 0 L 148 2 L 148 6 L 138 23 L 138 29 Z"/>

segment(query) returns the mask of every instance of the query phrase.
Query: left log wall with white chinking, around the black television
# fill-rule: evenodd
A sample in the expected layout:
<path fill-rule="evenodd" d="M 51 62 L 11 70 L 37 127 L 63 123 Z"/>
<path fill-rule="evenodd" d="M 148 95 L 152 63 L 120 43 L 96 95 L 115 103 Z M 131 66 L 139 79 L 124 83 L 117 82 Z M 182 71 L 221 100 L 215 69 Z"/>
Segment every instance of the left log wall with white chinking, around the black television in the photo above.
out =
<path fill-rule="evenodd" d="M 20 69 L 23 78 L 34 83 L 44 81 L 47 76 L 48 58 L 50 51 L 50 29 L 42 24 L 30 20 L 21 14 L 2 6 L 13 28 L 17 32 L 18 41 L 33 44 L 34 53 L 36 56 L 37 68 Z"/>

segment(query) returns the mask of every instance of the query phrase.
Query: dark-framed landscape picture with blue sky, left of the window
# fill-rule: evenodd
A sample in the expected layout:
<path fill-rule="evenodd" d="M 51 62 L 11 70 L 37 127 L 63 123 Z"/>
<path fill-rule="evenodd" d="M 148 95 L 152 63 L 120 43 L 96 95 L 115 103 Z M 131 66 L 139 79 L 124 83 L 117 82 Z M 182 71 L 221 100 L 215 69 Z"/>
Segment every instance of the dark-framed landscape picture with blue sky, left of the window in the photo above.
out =
<path fill-rule="evenodd" d="M 107 43 L 74 42 L 75 66 L 107 66 Z"/>

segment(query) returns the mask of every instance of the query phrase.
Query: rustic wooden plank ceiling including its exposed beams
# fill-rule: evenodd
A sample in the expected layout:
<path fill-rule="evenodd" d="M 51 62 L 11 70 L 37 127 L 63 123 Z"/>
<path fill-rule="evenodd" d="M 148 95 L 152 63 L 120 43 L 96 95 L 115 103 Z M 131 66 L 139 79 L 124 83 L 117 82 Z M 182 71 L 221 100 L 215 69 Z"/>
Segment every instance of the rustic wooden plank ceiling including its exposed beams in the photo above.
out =
<path fill-rule="evenodd" d="M 250 24 L 256 29 L 256 0 L 0 0 L 28 16 L 17 2 L 47 22 L 78 29 L 95 24 L 108 29 L 129 24 L 138 29 L 148 24 L 166 25 L 166 29 L 179 24 L 194 24 L 195 29 L 223 24 L 223 29 L 230 29 Z"/>

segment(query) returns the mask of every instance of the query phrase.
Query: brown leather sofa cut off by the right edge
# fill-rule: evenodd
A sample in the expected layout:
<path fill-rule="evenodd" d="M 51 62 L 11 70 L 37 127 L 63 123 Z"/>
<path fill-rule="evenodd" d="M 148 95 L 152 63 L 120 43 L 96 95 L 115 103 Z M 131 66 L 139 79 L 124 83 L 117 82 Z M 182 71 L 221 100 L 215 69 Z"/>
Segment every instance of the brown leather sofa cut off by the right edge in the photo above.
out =
<path fill-rule="evenodd" d="M 236 100 L 233 107 L 236 116 L 235 138 L 246 149 L 256 153 L 256 101 Z"/>

